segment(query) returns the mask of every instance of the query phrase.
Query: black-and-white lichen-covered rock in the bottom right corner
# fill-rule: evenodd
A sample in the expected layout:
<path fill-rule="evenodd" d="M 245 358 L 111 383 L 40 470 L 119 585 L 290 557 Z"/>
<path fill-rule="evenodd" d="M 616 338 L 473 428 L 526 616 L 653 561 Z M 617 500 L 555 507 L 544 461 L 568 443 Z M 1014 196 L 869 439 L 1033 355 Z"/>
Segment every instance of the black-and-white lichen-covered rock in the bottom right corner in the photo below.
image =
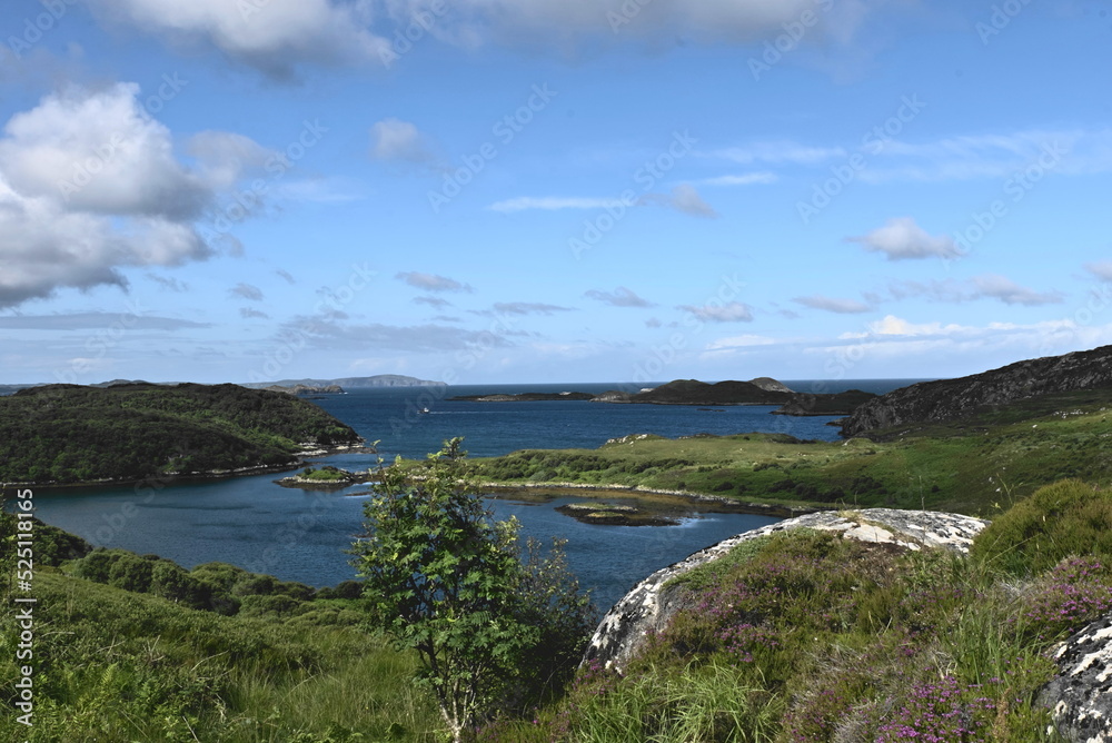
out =
<path fill-rule="evenodd" d="M 1112 615 L 1093 622 L 1054 653 L 1059 674 L 1040 695 L 1071 743 L 1112 743 Z"/>

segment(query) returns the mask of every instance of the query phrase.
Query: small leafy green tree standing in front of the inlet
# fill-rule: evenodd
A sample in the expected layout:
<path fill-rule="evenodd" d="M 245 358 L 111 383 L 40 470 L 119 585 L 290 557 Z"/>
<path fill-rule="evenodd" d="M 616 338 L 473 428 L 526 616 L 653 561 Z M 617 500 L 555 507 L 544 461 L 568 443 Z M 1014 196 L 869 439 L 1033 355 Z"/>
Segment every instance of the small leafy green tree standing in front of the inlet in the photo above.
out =
<path fill-rule="evenodd" d="M 535 699 L 538 682 L 566 677 L 574 665 L 538 673 L 537 661 L 567 665 L 590 630 L 588 600 L 563 556 L 523 564 L 518 522 L 492 521 L 461 478 L 460 442 L 445 442 L 423 467 L 406 468 L 400 457 L 380 467 L 364 507 L 367 536 L 351 549 L 373 623 L 417 652 L 419 678 L 457 742 L 495 712 Z M 579 625 L 556 615 L 568 607 Z M 560 647 L 544 645 L 552 642 Z"/>

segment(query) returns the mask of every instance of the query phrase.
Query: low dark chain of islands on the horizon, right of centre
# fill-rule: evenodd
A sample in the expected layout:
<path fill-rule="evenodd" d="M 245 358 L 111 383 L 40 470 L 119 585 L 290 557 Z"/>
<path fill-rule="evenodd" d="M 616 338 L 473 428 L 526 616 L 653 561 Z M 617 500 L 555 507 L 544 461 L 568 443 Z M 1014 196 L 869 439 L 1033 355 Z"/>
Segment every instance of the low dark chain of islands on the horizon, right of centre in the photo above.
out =
<path fill-rule="evenodd" d="M 851 389 L 836 394 L 796 393 L 771 377 L 748 382 L 709 384 L 697 379 L 676 379 L 653 389 L 626 393 L 612 389 L 599 395 L 582 392 L 522 393 L 518 395 L 460 395 L 449 400 L 476 403 L 536 403 L 590 400 L 593 403 L 645 405 L 780 405 L 778 415 L 850 415 L 876 395 Z"/>

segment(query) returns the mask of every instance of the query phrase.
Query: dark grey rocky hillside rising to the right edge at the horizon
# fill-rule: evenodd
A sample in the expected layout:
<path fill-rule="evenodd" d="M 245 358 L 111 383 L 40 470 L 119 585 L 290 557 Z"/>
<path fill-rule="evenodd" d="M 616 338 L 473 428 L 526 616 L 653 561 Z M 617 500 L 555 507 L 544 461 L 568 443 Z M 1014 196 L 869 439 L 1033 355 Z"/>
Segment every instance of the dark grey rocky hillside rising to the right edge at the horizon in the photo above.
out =
<path fill-rule="evenodd" d="M 1035 358 L 969 377 L 895 389 L 854 410 L 842 425 L 842 435 L 857 436 L 907 423 L 953 420 L 984 406 L 1108 386 L 1112 386 L 1112 346 Z"/>

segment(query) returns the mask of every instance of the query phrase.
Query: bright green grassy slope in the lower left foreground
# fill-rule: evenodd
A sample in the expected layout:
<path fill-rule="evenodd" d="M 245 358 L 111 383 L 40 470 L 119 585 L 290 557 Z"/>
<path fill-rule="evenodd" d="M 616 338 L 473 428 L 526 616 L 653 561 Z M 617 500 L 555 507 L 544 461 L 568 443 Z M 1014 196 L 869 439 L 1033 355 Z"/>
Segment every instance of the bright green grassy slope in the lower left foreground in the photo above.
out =
<path fill-rule="evenodd" d="M 411 684 L 414 660 L 358 626 L 330 624 L 351 601 L 312 602 L 291 618 L 220 616 L 56 568 L 39 571 L 34 593 L 29 740 L 439 740 L 439 716 Z M 17 678 L 10 617 L 6 697 Z M 0 717 L 0 740 L 27 733 L 13 714 Z"/>

